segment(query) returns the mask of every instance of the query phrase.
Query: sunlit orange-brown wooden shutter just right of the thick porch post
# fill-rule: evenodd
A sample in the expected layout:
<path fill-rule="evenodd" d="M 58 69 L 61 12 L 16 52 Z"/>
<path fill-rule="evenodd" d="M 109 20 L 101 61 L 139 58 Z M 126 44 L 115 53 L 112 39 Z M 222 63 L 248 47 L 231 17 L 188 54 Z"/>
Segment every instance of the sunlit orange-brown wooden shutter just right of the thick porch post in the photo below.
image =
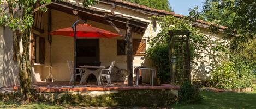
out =
<path fill-rule="evenodd" d="M 144 56 L 146 52 L 146 39 L 133 39 L 133 54 Z"/>

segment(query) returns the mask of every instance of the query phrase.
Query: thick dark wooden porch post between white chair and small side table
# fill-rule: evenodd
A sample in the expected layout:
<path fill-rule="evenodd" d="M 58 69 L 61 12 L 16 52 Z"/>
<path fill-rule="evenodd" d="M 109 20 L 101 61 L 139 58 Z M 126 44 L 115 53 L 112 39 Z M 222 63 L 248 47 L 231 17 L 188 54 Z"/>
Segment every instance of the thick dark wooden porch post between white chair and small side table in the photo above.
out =
<path fill-rule="evenodd" d="M 126 24 L 128 86 L 133 86 L 133 37 L 132 27 Z"/>

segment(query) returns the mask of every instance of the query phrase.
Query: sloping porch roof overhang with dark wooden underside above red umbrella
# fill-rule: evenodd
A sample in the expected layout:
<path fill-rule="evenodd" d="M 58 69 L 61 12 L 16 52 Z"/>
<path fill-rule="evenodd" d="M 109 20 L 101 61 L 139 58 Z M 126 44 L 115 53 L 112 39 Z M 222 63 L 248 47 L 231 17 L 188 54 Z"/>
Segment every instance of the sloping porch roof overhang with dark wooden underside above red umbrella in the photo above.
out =
<path fill-rule="evenodd" d="M 148 22 L 134 19 L 132 17 L 114 14 L 96 8 L 84 8 L 82 5 L 75 4 L 73 2 L 52 1 L 51 4 L 47 5 L 47 7 L 50 9 L 65 12 L 67 14 L 76 15 L 83 20 L 91 20 L 107 25 L 110 25 L 108 21 L 112 21 L 117 28 L 121 29 L 126 29 L 128 22 L 128 24 L 133 28 L 133 32 L 139 34 L 144 34 L 149 24 Z M 74 11 L 77 13 L 74 14 Z"/>

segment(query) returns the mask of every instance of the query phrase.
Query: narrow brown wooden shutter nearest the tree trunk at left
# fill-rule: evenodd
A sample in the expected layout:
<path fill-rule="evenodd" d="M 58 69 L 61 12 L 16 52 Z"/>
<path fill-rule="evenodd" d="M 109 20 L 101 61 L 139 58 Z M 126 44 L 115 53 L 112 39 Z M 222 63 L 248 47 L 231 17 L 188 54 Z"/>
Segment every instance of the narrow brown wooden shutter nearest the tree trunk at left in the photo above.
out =
<path fill-rule="evenodd" d="M 31 55 L 31 63 L 33 64 L 33 63 L 35 63 L 35 59 L 36 59 L 36 57 L 35 57 L 35 48 L 36 48 L 36 44 L 35 43 L 37 43 L 37 37 L 36 37 L 37 35 L 35 35 L 35 34 L 32 34 L 31 35 L 31 46 L 30 46 L 30 50 L 31 50 L 31 52 L 30 52 L 30 55 Z"/>

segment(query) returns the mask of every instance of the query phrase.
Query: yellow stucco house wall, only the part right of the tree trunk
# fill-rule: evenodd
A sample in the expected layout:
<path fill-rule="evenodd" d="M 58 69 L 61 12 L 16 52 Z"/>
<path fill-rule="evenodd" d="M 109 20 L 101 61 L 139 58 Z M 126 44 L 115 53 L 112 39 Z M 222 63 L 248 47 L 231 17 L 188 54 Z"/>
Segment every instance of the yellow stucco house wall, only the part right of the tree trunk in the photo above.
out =
<path fill-rule="evenodd" d="M 154 36 L 157 35 L 158 31 L 161 29 L 159 24 L 157 24 L 157 30 L 154 31 L 152 28 L 151 20 L 149 17 L 150 15 L 141 14 L 140 12 L 129 10 L 126 8 L 116 7 L 112 9 L 110 5 L 99 3 L 93 8 L 111 11 L 113 10 L 115 14 L 122 14 L 124 16 L 130 16 L 136 19 L 140 19 L 141 21 L 149 22 L 146 31 L 144 34 L 136 34 L 133 33 L 133 39 L 146 39 L 147 44 L 146 48 L 150 47 L 148 41 Z M 79 18 L 66 14 L 57 10 L 52 11 L 52 30 L 70 27 L 76 20 Z M 159 21 L 157 21 L 159 22 Z M 110 26 L 105 25 L 102 23 L 94 22 L 94 21 L 87 21 L 87 24 L 91 24 L 93 27 L 102 28 L 108 31 L 112 31 L 116 33 L 116 31 Z M 206 35 L 213 35 L 204 28 L 200 28 L 201 31 Z M 45 33 L 40 34 L 40 36 L 45 37 L 45 64 L 44 65 L 35 65 L 34 70 L 35 73 L 39 73 L 41 80 L 44 80 L 46 76 L 49 74 L 49 69 L 45 66 L 49 65 L 49 43 L 47 43 L 47 14 L 44 14 L 44 30 Z M 122 33 L 126 33 L 125 30 L 121 29 Z M 213 35 L 216 37 L 222 37 L 222 35 Z M 127 69 L 127 56 L 117 56 L 117 39 L 120 38 L 113 38 L 113 39 L 100 39 L 100 61 L 102 62 L 102 66 L 109 66 L 111 61 L 115 60 L 117 66 L 120 69 Z M 67 67 L 67 60 L 74 60 L 74 41 L 71 37 L 65 36 L 52 36 L 52 46 L 51 46 L 51 57 L 52 57 L 52 65 L 56 66 L 53 68 L 53 76 L 55 76 L 56 81 L 69 81 L 70 73 Z M 209 61 L 209 59 L 204 59 Z M 200 62 L 199 62 L 200 63 Z M 150 60 L 143 59 L 142 56 L 135 56 L 133 59 L 133 66 L 146 66 L 153 68 L 151 65 Z M 199 64 L 200 65 L 200 64 Z M 209 74 L 205 74 L 204 71 L 199 72 L 198 69 L 200 66 L 195 66 L 192 69 L 192 75 L 194 78 L 205 78 L 205 76 L 209 76 Z"/>

